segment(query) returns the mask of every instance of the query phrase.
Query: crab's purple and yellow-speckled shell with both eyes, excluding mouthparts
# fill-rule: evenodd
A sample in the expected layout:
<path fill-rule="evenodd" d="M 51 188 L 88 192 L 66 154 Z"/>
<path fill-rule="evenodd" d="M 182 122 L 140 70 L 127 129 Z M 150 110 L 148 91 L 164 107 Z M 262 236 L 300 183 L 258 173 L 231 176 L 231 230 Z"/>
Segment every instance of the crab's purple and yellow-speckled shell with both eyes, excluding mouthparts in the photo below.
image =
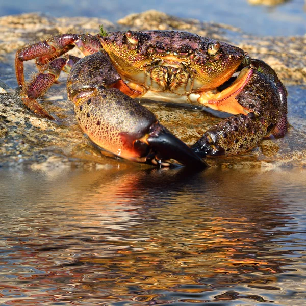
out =
<path fill-rule="evenodd" d="M 187 71 L 193 84 L 184 94 L 220 86 L 247 55 L 236 46 L 180 31 L 112 32 L 99 38 L 127 81 L 147 86 L 145 69 L 155 63 Z"/>

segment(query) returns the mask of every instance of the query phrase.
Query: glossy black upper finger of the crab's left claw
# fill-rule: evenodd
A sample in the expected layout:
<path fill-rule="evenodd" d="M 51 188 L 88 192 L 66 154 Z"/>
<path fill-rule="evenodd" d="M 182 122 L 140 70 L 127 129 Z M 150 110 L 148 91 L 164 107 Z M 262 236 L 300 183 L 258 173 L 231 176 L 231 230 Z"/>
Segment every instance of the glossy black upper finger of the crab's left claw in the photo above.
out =
<path fill-rule="evenodd" d="M 188 167 L 199 167 L 201 169 L 208 167 L 208 164 L 197 156 L 188 145 L 176 138 L 163 126 L 159 126 L 158 132 L 150 133 L 147 142 L 157 152 L 157 159 L 162 161 L 174 159 Z"/>

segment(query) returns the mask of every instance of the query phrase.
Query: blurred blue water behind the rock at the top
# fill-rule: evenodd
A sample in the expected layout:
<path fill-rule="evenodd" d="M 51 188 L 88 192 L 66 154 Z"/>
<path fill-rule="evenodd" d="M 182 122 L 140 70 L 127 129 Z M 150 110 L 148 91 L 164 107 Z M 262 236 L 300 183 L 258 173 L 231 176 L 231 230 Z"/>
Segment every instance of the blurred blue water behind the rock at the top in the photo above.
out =
<path fill-rule="evenodd" d="M 115 22 L 127 14 L 156 9 L 183 18 L 230 24 L 250 34 L 291 36 L 306 33 L 305 7 L 304 0 L 287 0 L 270 7 L 250 5 L 248 0 L 0 0 L 0 16 L 43 12 L 55 17 L 100 17 Z"/>

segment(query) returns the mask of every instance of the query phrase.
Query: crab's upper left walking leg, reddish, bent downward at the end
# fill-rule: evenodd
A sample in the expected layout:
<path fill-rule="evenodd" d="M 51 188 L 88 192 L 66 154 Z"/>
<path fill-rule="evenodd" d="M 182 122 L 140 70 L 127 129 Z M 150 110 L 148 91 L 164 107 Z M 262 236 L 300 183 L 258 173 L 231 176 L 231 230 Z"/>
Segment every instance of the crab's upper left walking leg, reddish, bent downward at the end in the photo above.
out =
<path fill-rule="evenodd" d="M 84 55 L 93 54 L 101 49 L 100 41 L 96 36 L 90 34 L 62 34 L 17 50 L 15 69 L 19 87 L 22 88 L 24 85 L 24 61 L 37 59 L 36 63 L 42 65 L 58 58 L 74 46 L 77 46 Z"/>

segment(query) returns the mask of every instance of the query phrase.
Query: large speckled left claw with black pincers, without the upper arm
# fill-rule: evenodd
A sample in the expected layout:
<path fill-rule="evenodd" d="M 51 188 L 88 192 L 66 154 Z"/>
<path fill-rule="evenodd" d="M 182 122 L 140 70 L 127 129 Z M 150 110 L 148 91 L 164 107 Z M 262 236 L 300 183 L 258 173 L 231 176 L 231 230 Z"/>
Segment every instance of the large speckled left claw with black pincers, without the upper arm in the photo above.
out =
<path fill-rule="evenodd" d="M 116 88 L 75 92 L 75 116 L 89 138 L 115 156 L 159 166 L 207 167 L 155 115 Z M 174 160 L 174 161 L 173 161 Z"/>

